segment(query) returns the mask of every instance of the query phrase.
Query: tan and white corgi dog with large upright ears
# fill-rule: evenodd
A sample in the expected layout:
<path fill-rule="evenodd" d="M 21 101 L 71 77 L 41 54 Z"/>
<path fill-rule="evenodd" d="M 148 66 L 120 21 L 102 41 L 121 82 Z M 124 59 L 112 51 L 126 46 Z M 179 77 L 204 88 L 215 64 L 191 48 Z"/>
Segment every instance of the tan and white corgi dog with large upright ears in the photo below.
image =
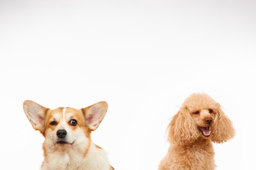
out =
<path fill-rule="evenodd" d="M 106 151 L 90 135 L 106 115 L 106 102 L 51 110 L 26 100 L 23 109 L 33 128 L 45 137 L 42 170 L 114 170 Z"/>

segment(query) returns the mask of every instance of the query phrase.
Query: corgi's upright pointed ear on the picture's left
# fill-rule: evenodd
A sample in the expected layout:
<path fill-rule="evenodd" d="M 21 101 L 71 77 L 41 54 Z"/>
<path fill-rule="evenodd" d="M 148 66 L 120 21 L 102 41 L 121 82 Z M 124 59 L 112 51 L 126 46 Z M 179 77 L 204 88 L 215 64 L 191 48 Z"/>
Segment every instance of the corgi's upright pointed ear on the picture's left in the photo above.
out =
<path fill-rule="evenodd" d="M 45 108 L 31 100 L 25 100 L 23 109 L 33 128 L 41 132 L 45 126 L 45 116 L 49 108 Z"/>

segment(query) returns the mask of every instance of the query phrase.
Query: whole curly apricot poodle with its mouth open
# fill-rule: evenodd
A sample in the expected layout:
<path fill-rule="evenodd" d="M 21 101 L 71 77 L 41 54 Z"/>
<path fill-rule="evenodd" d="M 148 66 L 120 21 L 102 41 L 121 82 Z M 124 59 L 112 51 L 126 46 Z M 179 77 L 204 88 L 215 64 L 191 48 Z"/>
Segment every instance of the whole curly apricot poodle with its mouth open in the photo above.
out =
<path fill-rule="evenodd" d="M 232 121 L 205 93 L 193 93 L 173 116 L 166 132 L 170 147 L 159 170 L 214 170 L 213 143 L 235 136 Z"/>

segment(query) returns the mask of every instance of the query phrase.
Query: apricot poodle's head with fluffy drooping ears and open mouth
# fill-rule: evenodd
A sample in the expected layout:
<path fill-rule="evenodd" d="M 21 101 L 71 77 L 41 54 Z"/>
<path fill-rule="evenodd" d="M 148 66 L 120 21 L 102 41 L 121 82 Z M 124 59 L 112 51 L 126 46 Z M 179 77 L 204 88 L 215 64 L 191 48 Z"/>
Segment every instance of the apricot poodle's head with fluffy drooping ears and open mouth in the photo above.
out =
<path fill-rule="evenodd" d="M 190 144 L 198 138 L 222 143 L 235 135 L 232 121 L 220 104 L 205 93 L 194 93 L 186 98 L 167 130 L 167 140 L 180 144 Z"/>

